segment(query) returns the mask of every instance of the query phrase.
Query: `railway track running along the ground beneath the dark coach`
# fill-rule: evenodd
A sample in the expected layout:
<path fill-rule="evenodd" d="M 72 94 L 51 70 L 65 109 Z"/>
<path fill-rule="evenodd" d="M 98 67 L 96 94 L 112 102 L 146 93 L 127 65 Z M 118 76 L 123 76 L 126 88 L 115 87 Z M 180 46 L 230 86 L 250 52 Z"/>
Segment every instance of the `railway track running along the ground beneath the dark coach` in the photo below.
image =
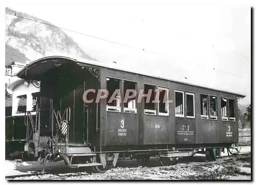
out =
<path fill-rule="evenodd" d="M 132 171 L 146 171 L 146 170 L 157 170 L 157 169 L 163 169 L 163 168 L 174 168 L 174 167 L 189 167 L 189 166 L 208 166 L 212 164 L 221 164 L 221 163 L 228 163 L 228 162 L 234 162 L 237 160 L 237 157 L 239 158 L 246 158 L 248 156 L 230 156 L 231 158 L 218 158 L 217 161 L 213 162 L 190 162 L 188 164 L 177 164 L 172 166 L 156 166 L 156 167 L 136 167 L 136 168 L 129 168 L 129 169 L 114 169 L 114 171 L 107 171 L 106 174 L 111 173 L 122 173 L 122 172 L 132 172 Z M 30 174 L 23 174 L 23 175 L 11 175 L 6 176 L 7 180 L 21 180 L 18 177 L 32 177 L 30 179 L 34 179 L 33 177 L 36 177 L 36 180 L 65 180 L 69 177 L 81 177 L 81 176 L 88 176 L 88 175 L 97 175 L 102 173 L 86 173 L 86 172 L 75 172 L 75 173 L 67 173 L 67 174 L 50 174 L 45 173 L 41 174 L 40 172 L 30 173 Z"/>

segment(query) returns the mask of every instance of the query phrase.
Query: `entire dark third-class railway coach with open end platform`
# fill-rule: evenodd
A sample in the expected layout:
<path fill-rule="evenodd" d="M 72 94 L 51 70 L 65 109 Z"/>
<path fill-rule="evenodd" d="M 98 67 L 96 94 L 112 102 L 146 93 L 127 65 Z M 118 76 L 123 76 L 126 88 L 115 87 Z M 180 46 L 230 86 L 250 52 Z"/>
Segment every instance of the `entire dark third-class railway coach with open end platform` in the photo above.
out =
<path fill-rule="evenodd" d="M 118 156 L 169 163 L 201 151 L 214 160 L 238 142 L 241 94 L 66 57 L 36 60 L 17 76 L 40 89 L 38 109 L 25 115 L 25 151 L 41 163 L 104 172 Z"/>

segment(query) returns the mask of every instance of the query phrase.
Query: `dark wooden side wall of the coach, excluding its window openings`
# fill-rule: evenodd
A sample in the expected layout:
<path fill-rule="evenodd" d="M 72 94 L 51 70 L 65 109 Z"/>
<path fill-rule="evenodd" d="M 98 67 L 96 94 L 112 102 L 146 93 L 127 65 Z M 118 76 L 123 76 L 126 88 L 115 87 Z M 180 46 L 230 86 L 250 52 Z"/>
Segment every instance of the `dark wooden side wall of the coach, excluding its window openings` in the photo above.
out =
<path fill-rule="evenodd" d="M 119 78 L 134 81 L 138 89 L 143 89 L 144 84 L 164 87 L 169 89 L 170 100 L 169 115 L 144 114 L 144 102 L 138 103 L 137 114 L 106 111 L 106 102 L 101 102 L 101 145 L 159 145 L 159 144 L 218 144 L 238 142 L 238 104 L 239 95 L 207 89 L 164 80 L 157 77 L 120 71 L 111 68 L 101 68 L 101 88 L 106 88 L 106 77 Z M 175 90 L 195 93 L 195 118 L 175 116 Z M 202 119 L 200 95 L 212 95 L 217 97 L 217 108 L 221 108 L 221 98 L 234 99 L 236 121 L 222 120 L 221 109 L 217 109 L 217 120 Z M 158 109 L 158 107 L 157 107 Z M 186 109 L 186 108 L 185 108 Z M 158 112 L 158 110 L 156 111 Z M 121 121 L 124 122 L 126 136 L 119 136 Z M 190 135 L 179 134 L 183 125 L 189 126 Z M 227 137 L 227 133 L 232 136 Z"/>

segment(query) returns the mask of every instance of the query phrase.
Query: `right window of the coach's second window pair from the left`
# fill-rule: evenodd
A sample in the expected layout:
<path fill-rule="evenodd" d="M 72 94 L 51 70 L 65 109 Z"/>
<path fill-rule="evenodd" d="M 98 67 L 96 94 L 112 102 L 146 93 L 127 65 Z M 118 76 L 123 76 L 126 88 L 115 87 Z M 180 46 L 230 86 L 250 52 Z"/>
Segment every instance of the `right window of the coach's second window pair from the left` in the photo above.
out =
<path fill-rule="evenodd" d="M 169 89 L 158 87 L 158 97 L 159 97 L 159 110 L 158 115 L 168 116 L 169 115 L 169 103 L 168 103 Z"/>

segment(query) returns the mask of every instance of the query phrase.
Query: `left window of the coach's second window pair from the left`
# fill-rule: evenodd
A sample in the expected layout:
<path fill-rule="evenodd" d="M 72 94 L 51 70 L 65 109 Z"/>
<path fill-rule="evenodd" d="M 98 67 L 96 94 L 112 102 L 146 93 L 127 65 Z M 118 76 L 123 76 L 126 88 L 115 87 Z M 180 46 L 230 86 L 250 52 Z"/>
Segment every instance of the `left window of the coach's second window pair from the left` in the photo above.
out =
<path fill-rule="evenodd" d="M 144 85 L 144 107 L 145 114 L 156 115 L 156 86 Z"/>

